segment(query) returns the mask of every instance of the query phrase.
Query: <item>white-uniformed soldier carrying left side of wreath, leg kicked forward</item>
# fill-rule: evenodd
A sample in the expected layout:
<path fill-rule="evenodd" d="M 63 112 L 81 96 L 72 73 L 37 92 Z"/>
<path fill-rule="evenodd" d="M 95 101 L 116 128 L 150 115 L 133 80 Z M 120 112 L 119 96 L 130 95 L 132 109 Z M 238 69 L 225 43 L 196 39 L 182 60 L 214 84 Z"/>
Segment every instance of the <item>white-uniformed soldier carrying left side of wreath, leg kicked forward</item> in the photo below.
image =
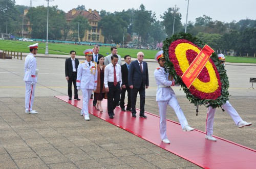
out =
<path fill-rule="evenodd" d="M 157 82 L 156 101 L 158 103 L 159 116 L 160 116 L 160 137 L 163 143 L 169 144 L 170 141 L 166 135 L 166 110 L 167 105 L 171 106 L 181 124 L 183 131 L 192 131 L 186 120 L 186 117 L 178 103 L 176 95 L 170 86 L 175 85 L 175 80 L 171 79 L 169 73 L 164 69 L 164 55 L 163 51 L 156 54 L 155 60 L 158 61 L 159 67 L 155 70 L 154 75 Z"/>

